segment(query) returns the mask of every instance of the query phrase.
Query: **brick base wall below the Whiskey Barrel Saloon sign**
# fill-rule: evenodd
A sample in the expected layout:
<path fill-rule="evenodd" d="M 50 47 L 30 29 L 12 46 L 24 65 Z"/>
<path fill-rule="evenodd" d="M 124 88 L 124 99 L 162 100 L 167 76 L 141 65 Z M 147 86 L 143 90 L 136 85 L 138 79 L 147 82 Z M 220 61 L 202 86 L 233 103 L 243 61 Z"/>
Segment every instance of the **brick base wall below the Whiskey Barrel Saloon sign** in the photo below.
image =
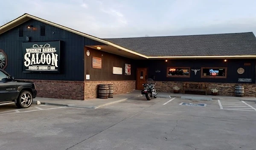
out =
<path fill-rule="evenodd" d="M 21 80 L 35 82 L 37 97 L 84 100 L 84 81 Z"/>

